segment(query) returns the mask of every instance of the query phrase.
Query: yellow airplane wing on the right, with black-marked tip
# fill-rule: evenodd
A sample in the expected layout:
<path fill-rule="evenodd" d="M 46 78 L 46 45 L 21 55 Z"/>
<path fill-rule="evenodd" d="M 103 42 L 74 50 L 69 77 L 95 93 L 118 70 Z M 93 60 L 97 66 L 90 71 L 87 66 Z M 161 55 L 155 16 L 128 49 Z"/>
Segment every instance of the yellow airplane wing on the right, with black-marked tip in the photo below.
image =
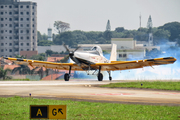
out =
<path fill-rule="evenodd" d="M 155 58 L 155 59 L 145 59 L 137 61 L 111 61 L 111 63 L 96 63 L 91 65 L 93 68 L 99 68 L 101 66 L 101 71 L 115 71 L 115 70 L 127 70 L 143 68 L 147 66 L 155 65 L 166 65 L 173 64 L 176 61 L 173 57 L 166 58 Z"/>

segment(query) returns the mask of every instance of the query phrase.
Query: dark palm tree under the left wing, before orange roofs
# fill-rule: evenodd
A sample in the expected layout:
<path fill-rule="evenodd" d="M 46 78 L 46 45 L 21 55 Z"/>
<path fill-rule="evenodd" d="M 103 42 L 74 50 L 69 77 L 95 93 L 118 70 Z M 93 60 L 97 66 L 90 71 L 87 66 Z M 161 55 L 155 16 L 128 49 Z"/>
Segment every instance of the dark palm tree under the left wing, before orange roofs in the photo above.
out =
<path fill-rule="evenodd" d="M 20 65 L 12 70 L 12 74 L 16 73 L 17 71 L 19 71 L 20 75 L 29 74 L 30 68 L 26 65 Z"/>

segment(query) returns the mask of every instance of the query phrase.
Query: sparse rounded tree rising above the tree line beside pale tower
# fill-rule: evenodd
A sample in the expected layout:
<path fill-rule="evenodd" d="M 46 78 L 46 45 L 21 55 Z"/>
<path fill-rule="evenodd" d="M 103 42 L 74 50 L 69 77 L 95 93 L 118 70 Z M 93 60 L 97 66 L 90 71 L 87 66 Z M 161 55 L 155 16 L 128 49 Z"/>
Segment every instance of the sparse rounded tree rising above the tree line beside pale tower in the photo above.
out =
<path fill-rule="evenodd" d="M 70 28 L 70 24 L 62 22 L 62 21 L 55 21 L 54 27 L 56 28 L 58 33 L 61 34 L 62 32 L 65 32 L 66 30 Z"/>

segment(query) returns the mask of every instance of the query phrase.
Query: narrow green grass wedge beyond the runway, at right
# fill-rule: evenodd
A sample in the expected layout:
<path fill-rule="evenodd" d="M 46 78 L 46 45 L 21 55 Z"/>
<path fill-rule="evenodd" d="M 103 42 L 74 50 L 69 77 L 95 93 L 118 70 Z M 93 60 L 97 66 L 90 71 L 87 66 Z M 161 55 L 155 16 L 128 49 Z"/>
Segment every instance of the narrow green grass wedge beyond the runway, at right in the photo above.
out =
<path fill-rule="evenodd" d="M 137 82 L 125 82 L 125 83 L 110 83 L 102 85 L 101 87 L 109 88 L 145 88 L 145 89 L 159 89 L 159 90 L 177 90 L 180 91 L 180 82 L 174 81 L 137 81 Z"/>

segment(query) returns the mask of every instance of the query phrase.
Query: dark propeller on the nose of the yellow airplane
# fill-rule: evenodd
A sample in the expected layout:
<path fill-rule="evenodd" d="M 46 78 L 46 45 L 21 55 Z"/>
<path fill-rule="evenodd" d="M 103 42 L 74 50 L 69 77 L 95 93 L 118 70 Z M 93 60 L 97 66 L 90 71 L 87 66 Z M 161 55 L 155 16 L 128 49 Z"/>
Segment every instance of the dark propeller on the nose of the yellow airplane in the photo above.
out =
<path fill-rule="evenodd" d="M 74 57 L 74 52 L 76 52 L 81 46 L 78 46 L 74 51 L 70 51 L 69 48 L 63 43 L 64 48 L 68 51 L 69 57 L 78 65 L 80 66 L 80 62 L 76 57 Z"/>

